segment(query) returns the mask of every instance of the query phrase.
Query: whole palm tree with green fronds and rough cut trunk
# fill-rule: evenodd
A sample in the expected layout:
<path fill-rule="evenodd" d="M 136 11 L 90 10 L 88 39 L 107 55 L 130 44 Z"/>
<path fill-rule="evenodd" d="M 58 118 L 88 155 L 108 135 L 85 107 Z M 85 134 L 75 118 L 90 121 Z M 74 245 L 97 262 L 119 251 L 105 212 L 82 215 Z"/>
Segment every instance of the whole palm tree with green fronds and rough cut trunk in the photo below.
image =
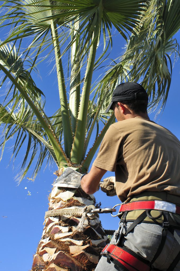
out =
<path fill-rule="evenodd" d="M 20 181 L 30 167 L 34 168 L 35 177 L 45 160 L 47 164 L 56 163 L 57 176 L 66 167 L 86 173 L 114 121 L 114 115 L 106 114 L 105 108 L 118 83 L 141 81 L 151 98 L 150 105 L 165 105 L 172 54 L 175 58 L 179 54 L 178 43 L 173 39 L 180 28 L 179 9 L 180 2 L 172 0 L 3 2 L 1 26 L 11 30 L 0 45 L 0 69 L 4 75 L 1 87 L 8 89 L 0 105 L 2 154 L 12 136 L 16 137 L 14 158 L 27 143 Z M 124 37 L 126 50 L 111 63 L 105 75 L 93 82 L 94 70 L 113 48 L 114 29 Z M 48 117 L 44 112 L 44 93 L 36 87 L 31 72 L 52 54 L 60 108 Z M 64 69 L 65 59 L 68 65 Z M 67 78 L 66 72 L 70 73 Z M 94 144 L 88 150 L 93 137 Z M 94 196 L 81 188 L 54 186 L 33 271 L 95 268 L 107 236 L 98 216 L 89 217 L 91 205 L 95 205 Z"/>

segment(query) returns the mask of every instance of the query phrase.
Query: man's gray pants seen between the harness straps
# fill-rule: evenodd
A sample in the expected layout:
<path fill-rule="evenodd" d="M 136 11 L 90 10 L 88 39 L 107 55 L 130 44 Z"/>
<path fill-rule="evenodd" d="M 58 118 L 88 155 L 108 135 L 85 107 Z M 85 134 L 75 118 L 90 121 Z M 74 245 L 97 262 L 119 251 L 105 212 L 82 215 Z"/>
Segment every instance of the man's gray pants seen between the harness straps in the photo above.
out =
<path fill-rule="evenodd" d="M 127 226 L 124 226 L 124 234 L 126 233 L 126 230 L 131 224 L 132 222 L 128 222 Z M 180 236 L 180 230 L 176 231 Z M 128 233 L 125 237 L 121 237 L 120 246 L 127 247 L 128 249 L 134 251 L 137 255 L 151 262 L 154 255 L 156 254 L 156 251 L 158 250 L 161 240 L 161 234 L 162 226 L 149 223 L 140 223 L 134 228 L 134 231 Z M 115 234 L 111 240 L 111 244 L 114 244 L 114 242 Z M 166 271 L 179 253 L 179 251 L 180 245 L 173 237 L 173 235 L 169 231 L 167 231 L 165 245 L 159 257 L 153 263 L 152 267 Z M 105 270 L 117 271 L 121 269 L 119 267 L 116 267 L 112 262 L 108 263 L 107 257 L 102 256 L 95 271 Z M 180 261 L 176 265 L 174 271 L 180 271 Z"/>

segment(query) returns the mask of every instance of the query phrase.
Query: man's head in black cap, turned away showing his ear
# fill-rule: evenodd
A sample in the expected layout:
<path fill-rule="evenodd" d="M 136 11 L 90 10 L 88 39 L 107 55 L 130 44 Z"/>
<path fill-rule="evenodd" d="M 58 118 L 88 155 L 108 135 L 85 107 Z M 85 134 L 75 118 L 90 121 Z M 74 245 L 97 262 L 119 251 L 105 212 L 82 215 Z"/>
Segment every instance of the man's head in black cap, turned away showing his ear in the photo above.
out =
<path fill-rule="evenodd" d="M 147 115 L 148 95 L 138 83 L 126 82 L 118 85 L 106 113 L 112 109 L 118 121 L 134 115 Z"/>

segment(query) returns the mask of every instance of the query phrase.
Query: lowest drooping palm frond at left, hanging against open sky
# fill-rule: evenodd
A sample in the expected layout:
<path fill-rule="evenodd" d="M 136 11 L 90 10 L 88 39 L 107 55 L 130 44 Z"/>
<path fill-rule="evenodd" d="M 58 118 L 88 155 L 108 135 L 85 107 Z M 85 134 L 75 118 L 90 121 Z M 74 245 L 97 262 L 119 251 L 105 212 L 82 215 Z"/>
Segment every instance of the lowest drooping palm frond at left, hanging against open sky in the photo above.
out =
<path fill-rule="evenodd" d="M 21 112 L 22 110 L 23 114 Z M 25 109 L 21 106 L 16 113 L 11 112 L 10 109 L 7 110 L 5 106 L 0 105 L 0 126 L 2 131 L 0 138 L 0 146 L 2 148 L 1 158 L 5 144 L 12 137 L 16 137 L 11 156 L 12 158 L 14 157 L 14 160 L 22 147 L 25 149 L 19 181 L 24 178 L 32 163 L 34 164 L 33 178 L 35 178 L 45 157 L 47 159 L 46 163 L 51 159 L 56 161 L 56 155 L 50 145 L 49 138 L 32 113 L 33 112 L 28 105 Z"/>

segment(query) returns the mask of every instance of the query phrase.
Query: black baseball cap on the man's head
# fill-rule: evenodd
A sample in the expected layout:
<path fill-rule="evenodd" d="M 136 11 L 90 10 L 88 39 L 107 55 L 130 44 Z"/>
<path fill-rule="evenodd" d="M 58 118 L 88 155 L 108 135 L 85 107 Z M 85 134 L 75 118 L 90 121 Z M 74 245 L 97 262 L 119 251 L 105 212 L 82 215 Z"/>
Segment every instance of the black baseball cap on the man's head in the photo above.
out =
<path fill-rule="evenodd" d="M 148 95 L 142 85 L 135 82 L 126 82 L 118 85 L 113 91 L 112 100 L 106 109 L 106 113 L 112 109 L 113 102 L 125 100 L 145 100 L 148 101 Z"/>

